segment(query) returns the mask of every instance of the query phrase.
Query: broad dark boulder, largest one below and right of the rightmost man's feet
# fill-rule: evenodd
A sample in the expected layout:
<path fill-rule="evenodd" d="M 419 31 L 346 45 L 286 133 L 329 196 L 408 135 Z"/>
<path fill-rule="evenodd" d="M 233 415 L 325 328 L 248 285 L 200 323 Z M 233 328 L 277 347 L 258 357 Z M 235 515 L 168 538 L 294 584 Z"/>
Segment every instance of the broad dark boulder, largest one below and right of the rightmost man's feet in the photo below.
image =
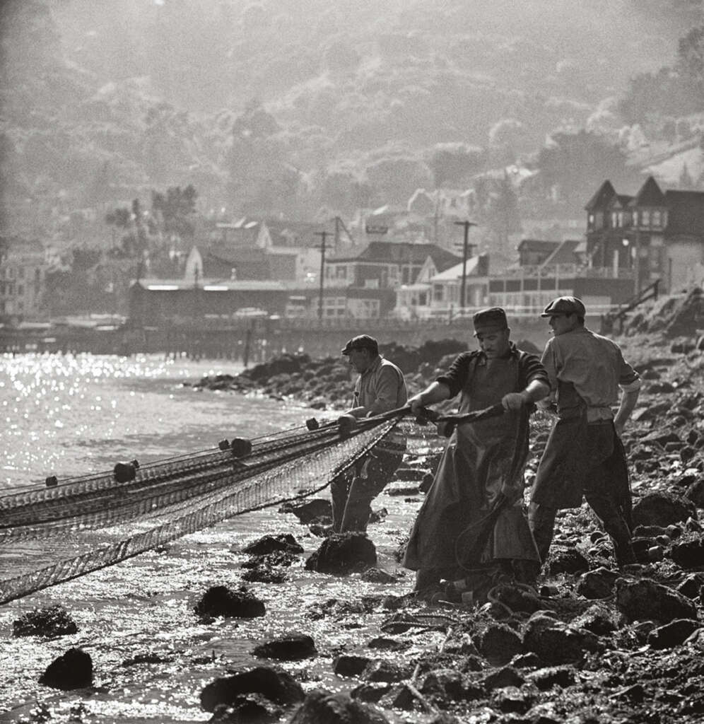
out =
<path fill-rule="evenodd" d="M 697 618 L 697 609 L 690 599 L 650 578 L 619 578 L 615 589 L 616 606 L 629 620 L 649 618 L 669 623 L 675 618 Z"/>

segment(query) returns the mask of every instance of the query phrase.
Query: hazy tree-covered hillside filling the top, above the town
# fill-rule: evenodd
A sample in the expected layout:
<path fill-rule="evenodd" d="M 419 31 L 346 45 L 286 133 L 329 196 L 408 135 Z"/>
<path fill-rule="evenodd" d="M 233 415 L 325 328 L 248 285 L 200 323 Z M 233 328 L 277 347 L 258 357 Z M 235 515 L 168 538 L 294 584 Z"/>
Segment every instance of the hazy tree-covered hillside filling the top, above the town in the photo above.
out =
<path fill-rule="evenodd" d="M 703 16 L 701 0 L 5 2 L 4 225 L 188 183 L 229 214 L 399 201 L 438 182 L 438 144 L 463 144 L 459 179 L 558 129 L 615 131 L 605 99 L 671 64 Z"/>

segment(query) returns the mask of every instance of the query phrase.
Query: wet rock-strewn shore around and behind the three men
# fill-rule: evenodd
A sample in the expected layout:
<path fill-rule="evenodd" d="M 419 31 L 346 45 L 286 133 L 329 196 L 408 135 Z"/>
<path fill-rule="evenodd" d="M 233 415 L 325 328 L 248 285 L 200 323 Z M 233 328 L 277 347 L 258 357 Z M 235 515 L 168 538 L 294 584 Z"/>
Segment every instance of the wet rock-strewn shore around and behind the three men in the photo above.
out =
<path fill-rule="evenodd" d="M 669 306 L 668 306 L 669 305 Z M 388 582 L 386 594 L 321 597 L 306 616 L 337 626 L 339 646 L 326 666 L 339 686 L 311 686 L 298 666 L 321 655 L 303 631 L 273 633 L 256 649 L 259 664 L 235 668 L 200 690 L 208 717 L 221 722 L 290 724 L 687 724 L 704 720 L 704 340 L 700 293 L 663 302 L 632 321 L 619 343 L 640 371 L 642 393 L 624 433 L 634 497 L 638 563 L 616 567 L 611 543 L 586 506 L 561 512 L 551 555 L 536 589 L 497 584 L 485 600 L 396 594 L 396 573 L 378 565 L 376 523 L 368 536 L 323 536 L 329 502 L 287 505 L 313 536 L 305 555 L 292 535 L 263 535 L 241 551 L 241 584 L 203 591 L 194 613 L 205 623 L 255 619 L 265 603 L 251 585 L 284 581 L 292 565 L 344 581 Z M 409 370 L 412 389 L 462 349 L 384 350 Z M 409 355 L 406 363 L 399 358 Z M 415 355 L 412 358 L 411 355 Z M 449 355 L 449 356 L 448 356 Z M 417 359 L 417 363 L 412 363 Z M 312 408 L 344 408 L 346 366 L 292 355 L 247 374 L 204 379 L 203 388 L 293 396 Z M 550 419 L 536 413 L 530 485 Z M 436 455 L 409 455 L 389 494 L 420 501 Z M 379 502 L 378 500 L 376 501 Z M 376 511 L 383 521 L 385 511 Z M 410 526 L 411 520 L 407 521 Z M 402 555 L 399 545 L 398 559 Z M 16 636 L 62 636 L 70 612 L 38 611 L 17 620 Z M 378 621 L 363 641 L 355 629 Z M 357 623 L 355 623 L 357 621 Z M 81 655 L 84 654 L 84 655 Z M 90 657 L 69 649 L 46 686 L 90 683 Z M 292 668 L 292 662 L 297 666 Z M 139 663 L 139 662 L 135 662 Z M 162 665 L 168 675 L 169 662 Z M 50 667 L 51 668 L 51 667 Z M 82 678 L 68 684 L 62 671 Z M 58 674 L 57 674 L 58 672 Z M 58 676 L 58 678 L 56 678 Z M 314 683 L 313 679 L 313 683 Z M 328 680 L 329 681 L 329 680 Z M 63 682 L 63 683 L 62 683 Z M 41 719 L 41 712 L 25 721 Z M 34 717 L 34 718 L 32 718 Z M 49 717 L 51 718 L 51 717 Z M 75 721 L 90 721 L 77 712 Z"/>

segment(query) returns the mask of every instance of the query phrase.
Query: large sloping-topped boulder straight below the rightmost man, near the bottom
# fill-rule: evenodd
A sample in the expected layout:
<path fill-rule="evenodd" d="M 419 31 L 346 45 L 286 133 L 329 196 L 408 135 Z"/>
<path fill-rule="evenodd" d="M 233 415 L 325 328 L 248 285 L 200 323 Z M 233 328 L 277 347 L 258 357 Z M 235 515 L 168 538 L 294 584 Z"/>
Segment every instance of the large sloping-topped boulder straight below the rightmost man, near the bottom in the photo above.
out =
<path fill-rule="evenodd" d="M 561 620 L 538 612 L 530 617 L 523 645 L 548 665 L 568 664 L 580 660 L 586 653 L 598 652 L 598 638 L 583 628 L 567 626 Z"/>

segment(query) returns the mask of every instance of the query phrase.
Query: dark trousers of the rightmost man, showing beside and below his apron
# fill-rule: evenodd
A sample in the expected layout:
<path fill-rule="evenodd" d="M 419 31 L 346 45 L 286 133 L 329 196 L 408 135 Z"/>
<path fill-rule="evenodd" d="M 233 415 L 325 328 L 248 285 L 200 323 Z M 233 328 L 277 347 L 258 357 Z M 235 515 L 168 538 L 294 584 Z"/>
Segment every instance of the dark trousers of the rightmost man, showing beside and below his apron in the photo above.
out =
<path fill-rule="evenodd" d="M 616 563 L 625 565 L 635 563 L 631 531 L 618 502 L 613 468 L 611 464 L 606 464 L 614 454 L 615 434 L 611 421 L 587 426 L 588 471 L 582 484 L 582 494 L 604 531 L 611 536 Z M 556 513 L 557 509 L 546 503 L 531 502 L 528 510 L 528 522 L 543 563 L 553 539 Z"/>

